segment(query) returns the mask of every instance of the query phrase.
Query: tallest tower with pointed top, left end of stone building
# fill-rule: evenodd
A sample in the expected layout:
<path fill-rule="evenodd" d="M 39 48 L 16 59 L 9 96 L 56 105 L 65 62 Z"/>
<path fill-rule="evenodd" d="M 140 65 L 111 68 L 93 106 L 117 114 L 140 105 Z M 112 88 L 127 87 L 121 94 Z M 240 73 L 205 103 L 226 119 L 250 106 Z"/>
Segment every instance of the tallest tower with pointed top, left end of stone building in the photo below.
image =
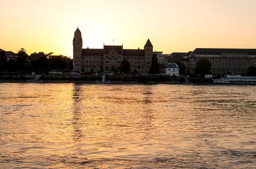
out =
<path fill-rule="evenodd" d="M 82 62 L 82 35 L 81 31 L 77 28 L 73 39 L 73 70 L 81 73 Z"/>

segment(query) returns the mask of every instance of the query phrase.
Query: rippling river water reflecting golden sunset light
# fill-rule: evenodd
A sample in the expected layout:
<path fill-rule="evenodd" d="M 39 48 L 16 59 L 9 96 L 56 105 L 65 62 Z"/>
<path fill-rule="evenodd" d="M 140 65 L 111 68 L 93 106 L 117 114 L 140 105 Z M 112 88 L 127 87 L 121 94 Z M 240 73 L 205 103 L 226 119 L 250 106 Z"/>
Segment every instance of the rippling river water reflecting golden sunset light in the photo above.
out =
<path fill-rule="evenodd" d="M 1 168 L 256 168 L 256 86 L 0 83 Z"/>

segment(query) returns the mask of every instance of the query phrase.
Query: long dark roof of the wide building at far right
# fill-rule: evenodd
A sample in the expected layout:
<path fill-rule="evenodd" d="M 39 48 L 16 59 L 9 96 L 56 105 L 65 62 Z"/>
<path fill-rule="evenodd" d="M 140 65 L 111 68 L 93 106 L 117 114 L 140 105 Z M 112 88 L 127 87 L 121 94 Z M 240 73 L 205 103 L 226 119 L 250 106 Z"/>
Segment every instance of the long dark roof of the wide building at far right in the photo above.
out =
<path fill-rule="evenodd" d="M 256 49 L 215 49 L 215 48 L 197 48 L 191 54 L 249 54 L 255 55 Z"/>

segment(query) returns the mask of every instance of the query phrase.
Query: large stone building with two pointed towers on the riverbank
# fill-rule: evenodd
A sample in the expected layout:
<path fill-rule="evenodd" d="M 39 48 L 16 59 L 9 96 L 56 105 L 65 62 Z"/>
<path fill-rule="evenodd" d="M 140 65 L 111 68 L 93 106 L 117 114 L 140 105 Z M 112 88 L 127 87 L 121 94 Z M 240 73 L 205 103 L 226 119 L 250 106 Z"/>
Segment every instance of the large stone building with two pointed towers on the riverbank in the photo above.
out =
<path fill-rule="evenodd" d="M 153 56 L 153 45 L 147 40 L 144 49 L 123 49 L 123 45 L 103 45 L 103 49 L 82 49 L 81 31 L 77 28 L 73 39 L 73 70 L 79 73 L 86 71 L 118 71 L 121 62 L 127 59 L 131 71 L 147 74 Z"/>

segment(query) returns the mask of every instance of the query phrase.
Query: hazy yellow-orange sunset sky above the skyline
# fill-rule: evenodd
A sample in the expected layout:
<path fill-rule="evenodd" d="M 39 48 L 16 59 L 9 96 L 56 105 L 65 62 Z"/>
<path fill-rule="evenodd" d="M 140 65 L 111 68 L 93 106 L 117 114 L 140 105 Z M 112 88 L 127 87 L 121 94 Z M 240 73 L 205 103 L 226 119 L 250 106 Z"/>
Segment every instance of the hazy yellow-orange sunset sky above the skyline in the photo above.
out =
<path fill-rule="evenodd" d="M 0 0 L 0 49 L 73 55 L 103 43 L 154 51 L 196 47 L 256 48 L 255 0 Z M 114 39 L 114 43 L 113 43 Z"/>

